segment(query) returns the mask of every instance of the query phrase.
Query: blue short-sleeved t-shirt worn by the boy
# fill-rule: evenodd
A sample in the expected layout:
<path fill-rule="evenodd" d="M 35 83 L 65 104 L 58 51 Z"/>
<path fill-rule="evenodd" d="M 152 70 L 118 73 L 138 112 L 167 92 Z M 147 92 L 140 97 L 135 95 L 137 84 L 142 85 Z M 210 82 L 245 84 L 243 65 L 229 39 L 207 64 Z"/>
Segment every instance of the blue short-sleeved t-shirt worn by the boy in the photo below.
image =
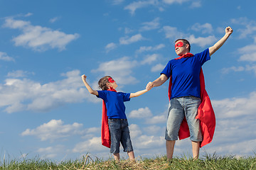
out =
<path fill-rule="evenodd" d="M 107 117 L 127 119 L 125 115 L 124 101 L 130 101 L 130 94 L 115 91 L 97 91 L 102 100 L 106 103 Z"/>

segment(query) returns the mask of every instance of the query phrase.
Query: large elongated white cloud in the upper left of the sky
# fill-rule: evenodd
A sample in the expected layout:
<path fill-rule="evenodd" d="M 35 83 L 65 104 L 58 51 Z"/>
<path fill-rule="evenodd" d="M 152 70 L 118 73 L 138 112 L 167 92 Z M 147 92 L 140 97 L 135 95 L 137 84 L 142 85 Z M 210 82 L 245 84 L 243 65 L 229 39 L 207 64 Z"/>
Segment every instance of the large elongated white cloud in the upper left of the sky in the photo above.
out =
<path fill-rule="evenodd" d="M 13 38 L 16 46 L 29 47 L 38 51 L 53 48 L 65 50 L 69 42 L 79 37 L 77 33 L 66 34 L 59 30 L 33 26 L 29 21 L 14 20 L 14 18 L 6 18 L 4 27 L 22 31 L 21 35 Z"/>

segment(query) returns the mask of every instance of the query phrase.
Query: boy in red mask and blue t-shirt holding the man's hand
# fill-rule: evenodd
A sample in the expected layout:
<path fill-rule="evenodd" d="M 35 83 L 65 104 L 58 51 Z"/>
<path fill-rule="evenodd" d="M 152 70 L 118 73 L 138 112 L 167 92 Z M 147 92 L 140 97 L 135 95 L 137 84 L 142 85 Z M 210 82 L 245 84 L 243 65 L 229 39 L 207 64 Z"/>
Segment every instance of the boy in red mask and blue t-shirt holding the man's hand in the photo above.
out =
<path fill-rule="evenodd" d="M 147 90 L 144 89 L 131 94 L 117 92 L 115 90 L 117 83 L 110 76 L 102 77 L 98 82 L 102 91 L 93 90 L 90 85 L 87 84 L 85 74 L 82 75 L 82 81 L 90 94 L 102 98 L 103 102 L 106 104 L 111 137 L 110 153 L 114 154 L 114 159 L 119 161 L 119 145 L 121 142 L 124 147 L 124 152 L 127 152 L 131 161 L 134 161 L 134 152 L 129 135 L 128 121 L 125 115 L 124 101 L 129 101 L 130 98 L 140 96 L 146 93 Z"/>

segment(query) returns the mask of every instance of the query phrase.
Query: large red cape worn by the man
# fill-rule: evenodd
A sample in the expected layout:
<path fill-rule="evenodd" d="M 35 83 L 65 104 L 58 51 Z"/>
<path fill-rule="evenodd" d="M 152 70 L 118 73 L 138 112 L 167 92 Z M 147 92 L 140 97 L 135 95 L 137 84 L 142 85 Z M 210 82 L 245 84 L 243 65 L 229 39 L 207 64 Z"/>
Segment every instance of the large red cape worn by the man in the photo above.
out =
<path fill-rule="evenodd" d="M 181 59 L 183 57 L 192 57 L 193 54 L 187 53 L 186 55 L 182 55 L 181 57 L 176 58 L 176 60 Z M 169 100 L 171 98 L 171 77 L 169 81 Z M 215 114 L 213 111 L 213 106 L 210 103 L 210 98 L 206 92 L 206 85 L 203 77 L 203 70 L 201 68 L 200 72 L 200 86 L 201 86 L 201 104 L 198 107 L 198 115 L 196 115 L 196 119 L 199 119 L 201 122 L 201 132 L 203 135 L 203 141 L 201 142 L 200 147 L 209 144 L 213 140 L 213 134 L 215 130 Z M 180 130 L 178 131 L 178 138 L 183 140 L 187 137 L 190 137 L 188 123 L 186 122 L 186 118 L 183 119 L 181 123 Z"/>

